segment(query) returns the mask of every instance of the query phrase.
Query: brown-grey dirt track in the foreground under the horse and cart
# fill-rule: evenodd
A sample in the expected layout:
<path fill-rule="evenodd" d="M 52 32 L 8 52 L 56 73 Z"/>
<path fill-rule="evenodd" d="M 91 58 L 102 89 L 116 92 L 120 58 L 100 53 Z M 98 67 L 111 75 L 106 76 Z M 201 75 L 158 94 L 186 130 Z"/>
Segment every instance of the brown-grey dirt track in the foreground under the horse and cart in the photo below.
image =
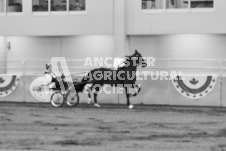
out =
<path fill-rule="evenodd" d="M 226 108 L 0 103 L 0 150 L 226 151 Z"/>

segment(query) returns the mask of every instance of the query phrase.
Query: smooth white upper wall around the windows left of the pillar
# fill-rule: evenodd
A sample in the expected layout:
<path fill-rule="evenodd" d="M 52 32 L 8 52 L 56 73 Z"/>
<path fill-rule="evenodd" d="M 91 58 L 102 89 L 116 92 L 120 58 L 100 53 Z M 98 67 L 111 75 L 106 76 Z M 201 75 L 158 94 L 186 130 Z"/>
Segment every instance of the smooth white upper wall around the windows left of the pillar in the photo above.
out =
<path fill-rule="evenodd" d="M 23 0 L 23 14 L 0 16 L 0 35 L 109 35 L 113 34 L 113 0 L 87 0 L 85 15 L 33 16 L 32 0 Z"/>

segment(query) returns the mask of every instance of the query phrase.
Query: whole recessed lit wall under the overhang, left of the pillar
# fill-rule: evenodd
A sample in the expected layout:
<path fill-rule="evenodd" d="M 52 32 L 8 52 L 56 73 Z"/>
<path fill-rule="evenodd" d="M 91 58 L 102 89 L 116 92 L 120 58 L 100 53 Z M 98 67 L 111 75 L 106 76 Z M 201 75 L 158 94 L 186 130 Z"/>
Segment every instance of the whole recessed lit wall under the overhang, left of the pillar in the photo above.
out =
<path fill-rule="evenodd" d="M 31 60 L 26 63 L 26 74 L 43 73 L 46 62 L 52 57 L 65 57 L 67 60 L 86 57 L 111 57 L 114 54 L 114 38 L 107 35 L 93 36 L 9 36 L 11 48 L 7 54 L 7 73 L 21 73 L 23 64 L 10 61 Z M 32 61 L 33 60 L 33 61 Z M 81 65 L 80 65 L 80 64 Z M 82 66 L 84 62 L 74 62 Z M 10 69 L 13 67 L 14 69 Z M 82 66 L 83 67 L 83 66 Z M 37 68 L 37 69 L 36 69 Z M 79 72 L 84 69 L 75 69 Z"/>

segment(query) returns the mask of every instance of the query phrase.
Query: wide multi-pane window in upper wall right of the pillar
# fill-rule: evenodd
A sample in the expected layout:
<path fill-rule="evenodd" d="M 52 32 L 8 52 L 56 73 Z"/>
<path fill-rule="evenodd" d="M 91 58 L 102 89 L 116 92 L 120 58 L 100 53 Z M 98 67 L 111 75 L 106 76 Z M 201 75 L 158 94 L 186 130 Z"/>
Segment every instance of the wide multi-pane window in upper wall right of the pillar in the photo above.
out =
<path fill-rule="evenodd" d="M 141 0 L 141 7 L 142 12 L 209 11 L 214 0 Z"/>

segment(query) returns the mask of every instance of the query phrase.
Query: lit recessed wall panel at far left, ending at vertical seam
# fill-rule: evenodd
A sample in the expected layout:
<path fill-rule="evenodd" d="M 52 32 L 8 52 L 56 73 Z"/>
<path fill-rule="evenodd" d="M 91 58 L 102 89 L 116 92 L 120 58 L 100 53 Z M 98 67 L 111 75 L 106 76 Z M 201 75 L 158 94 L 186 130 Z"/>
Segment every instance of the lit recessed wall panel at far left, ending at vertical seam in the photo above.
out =
<path fill-rule="evenodd" d="M 59 37 L 7 37 L 11 44 L 7 60 L 42 60 L 60 56 Z"/>

